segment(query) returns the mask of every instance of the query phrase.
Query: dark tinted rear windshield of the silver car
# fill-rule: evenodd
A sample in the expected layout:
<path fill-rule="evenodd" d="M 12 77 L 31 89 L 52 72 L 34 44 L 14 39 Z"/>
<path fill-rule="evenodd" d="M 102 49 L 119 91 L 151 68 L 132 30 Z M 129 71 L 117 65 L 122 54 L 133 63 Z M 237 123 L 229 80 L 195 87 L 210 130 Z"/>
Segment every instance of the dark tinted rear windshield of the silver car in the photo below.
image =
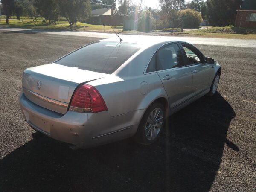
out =
<path fill-rule="evenodd" d="M 131 55 L 140 49 L 140 44 L 96 41 L 70 53 L 55 63 L 99 73 L 111 74 Z"/>

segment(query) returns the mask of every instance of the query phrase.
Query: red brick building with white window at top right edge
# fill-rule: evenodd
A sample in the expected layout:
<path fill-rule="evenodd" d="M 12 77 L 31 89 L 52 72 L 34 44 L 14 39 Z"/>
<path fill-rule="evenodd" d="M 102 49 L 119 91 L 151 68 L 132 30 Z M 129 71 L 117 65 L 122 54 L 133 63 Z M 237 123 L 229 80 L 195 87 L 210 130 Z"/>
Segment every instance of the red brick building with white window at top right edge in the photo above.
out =
<path fill-rule="evenodd" d="M 256 0 L 243 0 L 236 12 L 236 27 L 256 28 Z"/>

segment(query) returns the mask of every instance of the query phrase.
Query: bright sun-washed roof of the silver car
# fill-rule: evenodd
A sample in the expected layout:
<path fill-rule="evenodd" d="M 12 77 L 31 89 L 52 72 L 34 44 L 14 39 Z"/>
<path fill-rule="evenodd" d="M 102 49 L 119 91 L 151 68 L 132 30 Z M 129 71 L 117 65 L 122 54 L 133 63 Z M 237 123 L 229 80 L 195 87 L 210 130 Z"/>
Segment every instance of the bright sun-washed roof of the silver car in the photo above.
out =
<path fill-rule="evenodd" d="M 175 41 L 173 40 L 173 38 L 170 38 L 170 37 L 161 37 L 161 36 L 148 36 L 148 35 L 119 35 L 119 36 L 123 40 L 122 42 L 142 44 L 145 46 L 151 46 L 159 43 L 165 44 L 165 43 L 171 43 L 171 42 L 180 42 L 180 41 Z M 116 37 L 102 39 L 100 41 L 119 42 L 120 39 L 116 35 Z"/>

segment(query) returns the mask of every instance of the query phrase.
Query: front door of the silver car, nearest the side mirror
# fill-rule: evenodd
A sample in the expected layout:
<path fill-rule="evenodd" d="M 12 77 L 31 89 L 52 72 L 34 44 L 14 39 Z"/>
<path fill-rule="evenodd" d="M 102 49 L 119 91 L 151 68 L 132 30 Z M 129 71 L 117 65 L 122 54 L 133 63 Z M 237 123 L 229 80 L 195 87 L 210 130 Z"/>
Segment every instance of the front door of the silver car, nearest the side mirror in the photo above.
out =
<path fill-rule="evenodd" d="M 185 52 L 185 63 L 193 74 L 193 90 L 195 95 L 209 88 L 209 81 L 214 71 L 214 64 L 205 63 L 204 55 L 190 44 L 181 43 Z"/>

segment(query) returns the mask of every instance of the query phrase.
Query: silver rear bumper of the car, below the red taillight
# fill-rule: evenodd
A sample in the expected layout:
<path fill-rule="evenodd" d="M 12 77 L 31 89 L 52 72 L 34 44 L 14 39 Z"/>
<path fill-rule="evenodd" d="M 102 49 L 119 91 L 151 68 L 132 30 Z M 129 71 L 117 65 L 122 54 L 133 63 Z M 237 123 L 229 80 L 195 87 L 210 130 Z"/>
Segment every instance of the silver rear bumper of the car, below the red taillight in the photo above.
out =
<path fill-rule="evenodd" d="M 79 148 L 88 148 L 133 136 L 144 110 L 112 117 L 109 111 L 56 113 L 29 101 L 20 94 L 20 108 L 28 124 L 49 137 Z"/>

